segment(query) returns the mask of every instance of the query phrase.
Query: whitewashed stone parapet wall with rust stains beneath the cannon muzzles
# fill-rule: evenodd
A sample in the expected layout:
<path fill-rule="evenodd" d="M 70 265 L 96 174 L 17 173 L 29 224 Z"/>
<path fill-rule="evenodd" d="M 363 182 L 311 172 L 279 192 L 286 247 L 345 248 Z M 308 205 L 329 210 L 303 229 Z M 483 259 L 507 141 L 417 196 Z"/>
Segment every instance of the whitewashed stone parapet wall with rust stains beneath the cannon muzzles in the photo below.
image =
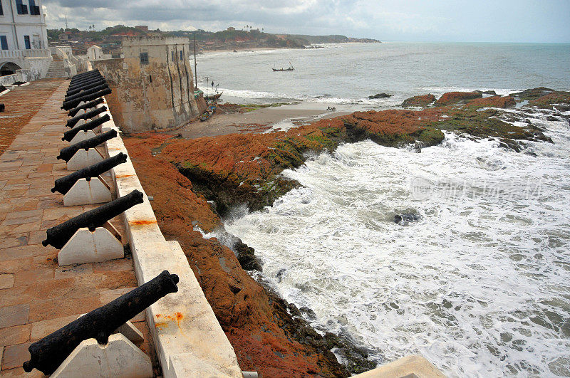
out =
<path fill-rule="evenodd" d="M 106 104 L 99 106 L 103 105 Z M 103 132 L 112 129 L 120 132 L 110 117 Z M 105 146 L 110 157 L 120 152 L 128 154 L 120 137 L 109 140 Z M 130 159 L 113 168 L 112 176 L 117 196 L 135 189 L 145 193 Z M 165 269 L 180 277 L 178 292 L 162 298 L 146 312 L 163 376 L 242 377 L 234 348 L 202 293 L 180 244 L 166 241 L 146 194 L 144 199 L 143 204 L 124 213 L 138 283 L 142 285 Z"/>

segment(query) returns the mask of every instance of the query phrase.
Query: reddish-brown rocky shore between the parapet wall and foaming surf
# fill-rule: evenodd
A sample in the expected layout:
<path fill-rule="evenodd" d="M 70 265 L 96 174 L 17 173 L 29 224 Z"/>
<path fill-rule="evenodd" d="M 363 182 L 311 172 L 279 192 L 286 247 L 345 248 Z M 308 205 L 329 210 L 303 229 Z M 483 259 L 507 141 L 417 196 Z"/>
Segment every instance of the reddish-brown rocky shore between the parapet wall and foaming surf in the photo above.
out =
<path fill-rule="evenodd" d="M 528 103 L 517 112 L 507 110 L 523 101 Z M 271 205 L 299 186 L 281 176 L 284 169 L 300 167 L 309 157 L 346 142 L 370 139 L 421 152 L 440 143 L 444 132 L 455 132 L 524 152 L 526 141 L 551 142 L 544 130 L 525 122 L 526 115 L 542 112 L 559 119 L 559 110 L 570 109 L 570 93 L 548 88 L 491 97 L 446 93 L 438 100 L 432 95 L 411 98 L 404 106 L 413 108 L 354 112 L 286 132 L 194 140 L 157 133 L 124 138 L 142 186 L 155 198 L 152 207 L 162 233 L 180 242 L 242 369 L 264 377 L 345 377 L 374 364 L 346 337 L 311 329 L 304 320 L 310 309 L 297 309 L 252 278 L 252 271 L 262 269 L 253 248 L 223 229 L 223 217 L 235 206 L 254 211 Z M 206 239 L 202 232 L 218 238 Z M 333 348 L 348 364 L 338 363 Z"/>

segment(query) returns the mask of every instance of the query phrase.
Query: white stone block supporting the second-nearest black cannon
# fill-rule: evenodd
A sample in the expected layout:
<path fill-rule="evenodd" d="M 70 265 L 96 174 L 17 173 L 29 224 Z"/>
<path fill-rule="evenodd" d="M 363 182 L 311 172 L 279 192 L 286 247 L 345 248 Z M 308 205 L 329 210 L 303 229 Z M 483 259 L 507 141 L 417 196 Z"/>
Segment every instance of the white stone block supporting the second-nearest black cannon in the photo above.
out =
<path fill-rule="evenodd" d="M 99 263 L 125 257 L 123 244 L 108 229 L 78 229 L 58 253 L 60 266 Z"/>

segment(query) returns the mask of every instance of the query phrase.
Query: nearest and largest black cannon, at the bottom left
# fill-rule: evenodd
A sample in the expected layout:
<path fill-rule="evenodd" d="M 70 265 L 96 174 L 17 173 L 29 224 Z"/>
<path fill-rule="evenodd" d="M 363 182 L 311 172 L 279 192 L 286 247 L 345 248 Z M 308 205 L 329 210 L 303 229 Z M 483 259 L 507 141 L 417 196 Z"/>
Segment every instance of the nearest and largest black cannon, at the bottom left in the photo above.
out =
<path fill-rule="evenodd" d="M 83 340 L 94 338 L 99 344 L 107 344 L 109 336 L 113 335 L 118 327 L 165 295 L 176 293 L 179 280 L 177 275 L 162 271 L 152 280 L 113 302 L 95 308 L 78 320 L 34 342 L 28 347 L 30 359 L 24 362 L 24 371 L 31 372 L 36 368 L 43 374 L 55 372 Z"/>

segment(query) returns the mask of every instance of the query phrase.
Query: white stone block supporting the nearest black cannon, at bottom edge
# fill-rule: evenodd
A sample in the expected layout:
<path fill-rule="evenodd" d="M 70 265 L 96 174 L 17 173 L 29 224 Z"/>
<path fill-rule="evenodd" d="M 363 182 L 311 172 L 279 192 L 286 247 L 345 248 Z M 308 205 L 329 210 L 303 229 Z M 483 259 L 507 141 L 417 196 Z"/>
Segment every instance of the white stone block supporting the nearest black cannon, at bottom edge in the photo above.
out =
<path fill-rule="evenodd" d="M 150 358 L 121 334 L 110 335 L 107 345 L 83 340 L 51 374 L 52 378 L 152 377 Z"/>

